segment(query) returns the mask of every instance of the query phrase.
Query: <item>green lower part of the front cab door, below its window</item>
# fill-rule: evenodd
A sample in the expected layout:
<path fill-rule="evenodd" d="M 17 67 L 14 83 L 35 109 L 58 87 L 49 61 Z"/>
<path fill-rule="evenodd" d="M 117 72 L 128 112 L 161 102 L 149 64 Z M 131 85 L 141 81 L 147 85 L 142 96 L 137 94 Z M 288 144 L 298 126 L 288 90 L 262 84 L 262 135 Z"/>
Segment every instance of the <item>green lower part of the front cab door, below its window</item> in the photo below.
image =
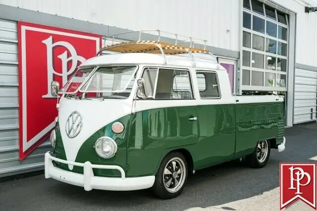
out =
<path fill-rule="evenodd" d="M 128 143 L 128 176 L 155 173 L 164 149 L 197 143 L 196 106 L 144 110 L 132 115 Z"/>

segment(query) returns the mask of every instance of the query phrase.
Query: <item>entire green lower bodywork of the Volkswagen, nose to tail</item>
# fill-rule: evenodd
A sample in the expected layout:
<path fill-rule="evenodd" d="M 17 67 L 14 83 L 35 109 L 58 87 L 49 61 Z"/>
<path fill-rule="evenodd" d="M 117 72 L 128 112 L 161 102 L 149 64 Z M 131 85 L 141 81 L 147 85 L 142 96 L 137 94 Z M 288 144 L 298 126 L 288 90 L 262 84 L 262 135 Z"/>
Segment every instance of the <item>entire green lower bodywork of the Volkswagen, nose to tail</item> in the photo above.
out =
<path fill-rule="evenodd" d="M 197 120 L 190 121 L 191 117 Z M 284 135 L 283 117 L 280 102 L 143 110 L 116 120 L 125 126 L 122 134 L 113 134 L 113 122 L 99 129 L 81 146 L 75 161 L 119 165 L 128 177 L 155 175 L 166 154 L 184 149 L 191 154 L 194 169 L 201 169 L 249 155 L 259 140 L 275 139 L 280 144 Z M 94 145 L 102 136 L 109 136 L 117 143 L 113 158 L 104 159 L 96 154 Z M 53 153 L 66 159 L 58 127 Z M 56 165 L 69 170 L 67 165 Z M 83 173 L 83 168 L 74 166 L 72 171 Z M 120 176 L 117 170 L 105 169 L 94 169 L 94 174 Z"/>

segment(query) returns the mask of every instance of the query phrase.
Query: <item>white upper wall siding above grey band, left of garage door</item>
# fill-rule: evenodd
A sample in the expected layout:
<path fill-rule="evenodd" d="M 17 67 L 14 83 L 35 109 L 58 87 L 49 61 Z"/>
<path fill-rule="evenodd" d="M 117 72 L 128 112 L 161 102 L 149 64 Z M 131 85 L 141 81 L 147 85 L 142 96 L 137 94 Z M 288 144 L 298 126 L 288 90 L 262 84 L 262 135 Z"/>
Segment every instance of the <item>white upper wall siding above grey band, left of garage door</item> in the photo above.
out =
<path fill-rule="evenodd" d="M 0 0 L 0 3 L 10 6 L 124 29 L 160 29 L 179 35 L 193 36 L 208 40 L 209 46 L 239 51 L 240 0 L 200 0 L 199 3 L 193 0 L 41 2 Z M 105 13 L 105 8 L 111 9 L 107 9 Z M 228 33 L 227 29 L 230 30 Z M 151 34 L 157 35 L 155 32 Z M 175 38 L 170 34 L 162 33 L 162 36 Z"/>

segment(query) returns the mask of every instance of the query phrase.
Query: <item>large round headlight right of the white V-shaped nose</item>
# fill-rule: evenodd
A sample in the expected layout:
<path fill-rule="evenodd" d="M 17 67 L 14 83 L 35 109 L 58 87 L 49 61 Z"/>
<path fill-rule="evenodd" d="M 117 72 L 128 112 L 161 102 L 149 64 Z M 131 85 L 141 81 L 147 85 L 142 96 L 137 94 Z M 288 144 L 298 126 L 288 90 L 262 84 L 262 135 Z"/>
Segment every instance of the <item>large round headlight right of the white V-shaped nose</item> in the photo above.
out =
<path fill-rule="evenodd" d="M 95 150 L 102 158 L 112 158 L 117 152 L 117 144 L 109 137 L 101 137 L 95 143 Z"/>

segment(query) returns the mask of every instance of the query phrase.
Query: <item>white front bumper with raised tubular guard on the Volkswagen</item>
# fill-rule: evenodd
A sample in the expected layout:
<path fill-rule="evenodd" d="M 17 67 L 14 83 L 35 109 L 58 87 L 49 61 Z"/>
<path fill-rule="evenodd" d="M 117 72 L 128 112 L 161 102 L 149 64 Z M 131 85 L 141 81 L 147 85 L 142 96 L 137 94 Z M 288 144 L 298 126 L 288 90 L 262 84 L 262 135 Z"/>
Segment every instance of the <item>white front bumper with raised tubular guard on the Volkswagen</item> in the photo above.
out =
<path fill-rule="evenodd" d="M 57 162 L 81 166 L 84 174 L 74 173 L 57 168 L 52 160 Z M 93 168 L 117 169 L 121 172 L 121 178 L 94 176 Z M 50 152 L 45 154 L 45 178 L 53 178 L 61 182 L 84 187 L 86 191 L 92 189 L 110 191 L 130 191 L 151 188 L 154 184 L 155 176 L 125 177 L 123 168 L 117 165 L 96 165 L 89 161 L 85 163 L 72 162 L 51 156 Z"/>

